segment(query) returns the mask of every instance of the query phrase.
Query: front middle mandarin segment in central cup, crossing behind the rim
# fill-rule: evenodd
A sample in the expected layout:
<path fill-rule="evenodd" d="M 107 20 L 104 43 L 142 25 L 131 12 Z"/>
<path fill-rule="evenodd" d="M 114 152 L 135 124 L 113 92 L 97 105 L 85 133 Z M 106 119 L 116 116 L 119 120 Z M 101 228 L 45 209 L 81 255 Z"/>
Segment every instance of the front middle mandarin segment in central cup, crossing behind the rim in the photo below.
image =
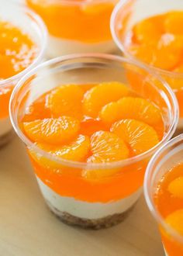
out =
<path fill-rule="evenodd" d="M 109 163 L 120 161 L 129 157 L 129 148 L 125 142 L 116 134 L 98 131 L 91 136 L 91 157 L 88 157 L 88 164 Z M 85 169 L 83 176 L 89 179 L 102 178 L 113 175 L 119 168 Z"/>

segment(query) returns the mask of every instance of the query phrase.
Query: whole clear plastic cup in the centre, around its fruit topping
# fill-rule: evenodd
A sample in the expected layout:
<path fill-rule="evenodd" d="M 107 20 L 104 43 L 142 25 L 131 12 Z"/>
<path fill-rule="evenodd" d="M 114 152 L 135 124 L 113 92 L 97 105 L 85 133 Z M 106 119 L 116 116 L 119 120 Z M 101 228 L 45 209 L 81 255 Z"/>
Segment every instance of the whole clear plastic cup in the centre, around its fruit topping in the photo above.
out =
<path fill-rule="evenodd" d="M 141 90 L 134 86 L 132 74 L 141 81 Z M 21 119 L 26 107 L 43 93 L 59 85 L 93 85 L 103 81 L 123 82 L 161 108 L 165 133 L 156 147 L 123 161 L 87 164 L 55 157 L 22 132 Z M 157 81 L 161 88 L 154 85 Z M 66 223 L 98 229 L 119 223 L 133 208 L 140 197 L 150 157 L 176 129 L 178 105 L 166 82 L 142 65 L 112 55 L 78 54 L 47 61 L 26 74 L 12 93 L 10 116 L 12 126 L 26 144 L 40 190 L 51 211 Z M 103 171 L 104 176 L 99 181 L 90 180 L 82 176 L 86 170 Z M 108 175 L 107 170 L 114 174 Z"/>

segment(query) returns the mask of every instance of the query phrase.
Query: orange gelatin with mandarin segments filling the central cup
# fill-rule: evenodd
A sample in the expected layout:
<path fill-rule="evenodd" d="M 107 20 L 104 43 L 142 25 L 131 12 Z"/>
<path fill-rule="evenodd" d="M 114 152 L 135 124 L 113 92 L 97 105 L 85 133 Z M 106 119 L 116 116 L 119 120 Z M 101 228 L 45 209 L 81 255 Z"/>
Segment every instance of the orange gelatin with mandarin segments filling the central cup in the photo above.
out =
<path fill-rule="evenodd" d="M 118 109 L 111 116 L 115 103 Z M 148 159 L 125 167 L 105 168 L 105 164 L 149 150 L 162 139 L 157 127 L 164 129 L 161 110 L 154 103 L 114 81 L 60 85 L 26 108 L 20 125 L 46 153 L 29 148 L 36 175 L 59 195 L 87 202 L 109 202 L 136 192 L 143 184 Z M 64 161 L 74 161 L 75 167 Z M 76 162 L 83 167 L 77 168 Z M 91 168 L 91 164 L 99 166 Z"/>

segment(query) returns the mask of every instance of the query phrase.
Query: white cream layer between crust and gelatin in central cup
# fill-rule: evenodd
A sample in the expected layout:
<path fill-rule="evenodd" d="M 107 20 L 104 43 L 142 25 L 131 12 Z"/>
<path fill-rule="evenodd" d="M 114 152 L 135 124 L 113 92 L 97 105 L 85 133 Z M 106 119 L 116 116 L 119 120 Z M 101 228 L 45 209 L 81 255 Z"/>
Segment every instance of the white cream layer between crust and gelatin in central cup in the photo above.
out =
<path fill-rule="evenodd" d="M 40 190 L 51 206 L 54 206 L 60 212 L 66 212 L 72 216 L 77 216 L 83 219 L 95 220 L 116 213 L 126 212 L 139 199 L 142 189 L 134 192 L 133 195 L 121 199 L 116 202 L 83 202 L 71 197 L 58 195 L 47 185 L 45 185 L 40 178 L 37 178 Z"/>

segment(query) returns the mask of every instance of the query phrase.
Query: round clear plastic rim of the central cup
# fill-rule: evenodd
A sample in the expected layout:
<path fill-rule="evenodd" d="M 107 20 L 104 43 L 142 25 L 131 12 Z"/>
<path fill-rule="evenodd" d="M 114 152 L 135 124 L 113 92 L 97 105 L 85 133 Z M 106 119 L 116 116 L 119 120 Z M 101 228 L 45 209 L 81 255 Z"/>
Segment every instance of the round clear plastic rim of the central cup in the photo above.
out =
<path fill-rule="evenodd" d="M 133 64 L 136 67 L 140 67 L 144 71 L 147 71 L 148 74 L 152 74 L 155 78 L 157 78 L 159 81 L 161 81 L 162 85 L 164 85 L 164 88 L 166 88 L 168 94 L 171 95 L 171 99 L 172 99 L 173 106 L 174 106 L 174 119 L 173 119 L 173 122 L 171 123 L 171 127 L 168 130 L 167 134 L 164 136 L 164 138 L 156 146 L 154 146 L 150 150 L 147 150 L 143 154 L 139 154 L 135 157 L 130 157 L 130 158 L 127 158 L 127 159 L 122 160 L 122 161 L 116 161 L 116 162 L 105 163 L 105 164 L 102 164 L 102 163 L 100 163 L 100 164 L 94 164 L 94 163 L 87 164 L 85 162 L 67 161 L 67 160 L 64 160 L 63 158 L 55 157 L 55 156 L 47 153 L 46 151 L 40 149 L 40 147 L 36 147 L 36 145 L 33 144 L 33 142 L 31 140 L 29 140 L 24 133 L 22 133 L 22 130 L 19 128 L 19 125 L 18 125 L 18 120 L 16 119 L 16 117 L 14 115 L 12 115 L 12 110 L 11 109 L 12 109 L 12 102 L 13 102 L 14 97 L 16 96 L 16 93 L 19 92 L 19 89 L 27 81 L 27 79 L 29 77 L 31 77 L 33 74 L 35 74 L 37 70 L 41 70 L 42 68 L 47 67 L 51 64 L 57 64 L 57 63 L 61 63 L 61 62 L 64 63 L 64 61 L 72 61 L 72 60 L 74 61 L 74 60 L 77 60 L 79 58 L 89 58 L 89 57 L 93 57 L 95 59 L 100 58 L 100 59 L 107 60 L 107 61 L 116 61 L 116 62 L 119 62 L 119 63 L 123 62 L 123 63 L 127 63 L 127 64 Z M 59 164 L 63 164 L 63 165 L 74 167 L 74 168 L 87 168 L 87 169 L 119 168 L 119 167 L 126 166 L 128 164 L 136 163 L 137 161 L 141 161 L 146 157 L 150 157 L 151 154 L 153 154 L 154 151 L 157 150 L 157 148 L 161 147 L 162 144 L 164 144 L 167 140 L 171 139 L 172 135 L 174 134 L 174 131 L 176 130 L 176 127 L 177 127 L 177 124 L 178 124 L 178 116 L 179 116 L 177 99 L 174 95 L 174 92 L 172 92 L 171 88 L 169 88 L 169 86 L 167 85 L 166 81 L 164 81 L 157 74 L 154 74 L 154 72 L 147 69 L 147 67 L 144 67 L 143 64 L 138 64 L 138 63 L 136 63 L 132 60 L 126 59 L 125 57 L 119 57 L 119 56 L 111 55 L 111 54 L 70 54 L 70 55 L 65 55 L 65 56 L 62 56 L 62 57 L 56 57 L 52 60 L 46 61 L 46 62 L 38 65 L 37 67 L 34 67 L 31 71 L 29 71 L 29 73 L 24 75 L 19 80 L 18 84 L 16 85 L 16 88 L 14 88 L 14 90 L 12 92 L 12 95 L 11 95 L 11 99 L 10 99 L 9 113 L 10 113 L 10 119 L 11 119 L 11 123 L 12 123 L 12 126 L 13 126 L 14 130 L 16 131 L 16 133 L 18 134 L 20 139 L 26 144 L 26 146 L 28 148 L 31 148 L 31 149 L 35 150 L 37 153 L 43 155 L 44 157 L 47 157 L 48 159 L 50 159 L 52 161 L 54 159 L 54 161 L 59 163 Z"/>

